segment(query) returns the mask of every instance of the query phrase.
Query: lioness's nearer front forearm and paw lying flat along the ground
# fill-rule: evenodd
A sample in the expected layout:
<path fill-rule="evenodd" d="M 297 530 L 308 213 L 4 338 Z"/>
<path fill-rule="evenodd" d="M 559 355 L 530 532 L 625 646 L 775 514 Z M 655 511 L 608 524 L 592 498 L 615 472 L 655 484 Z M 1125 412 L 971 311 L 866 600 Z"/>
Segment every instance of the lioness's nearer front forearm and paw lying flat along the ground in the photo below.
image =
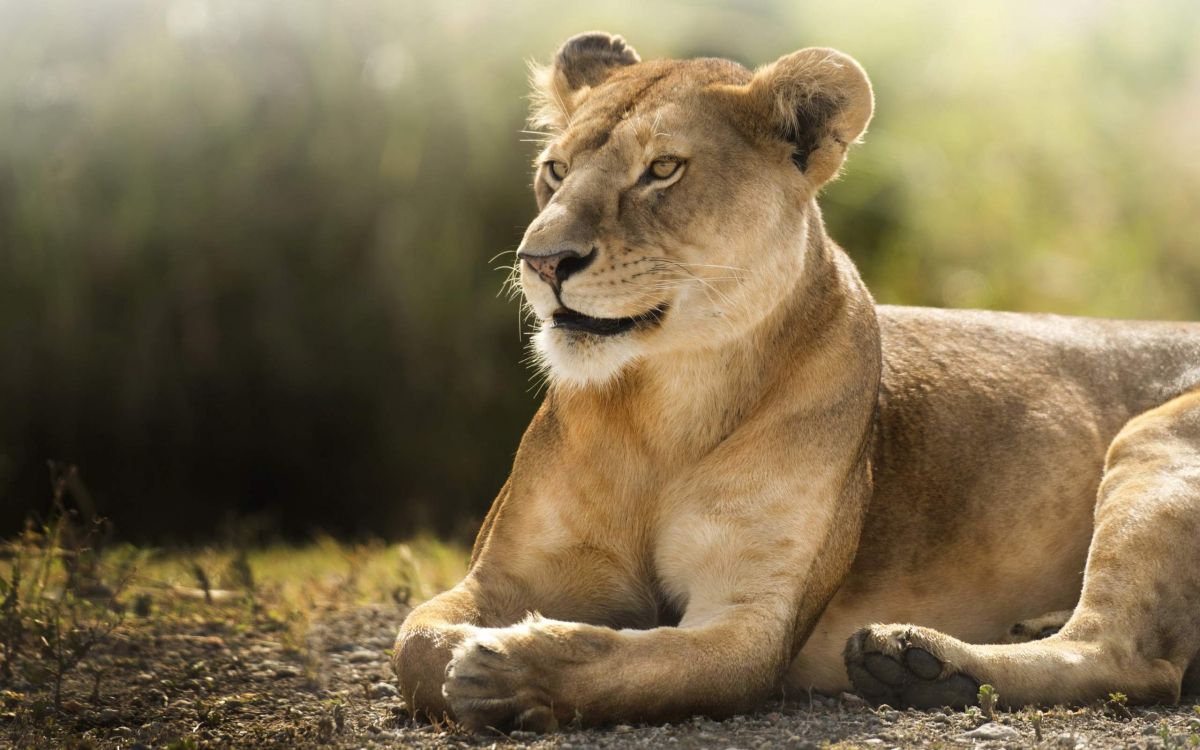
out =
<path fill-rule="evenodd" d="M 698 626 L 652 630 L 536 617 L 481 628 L 454 649 L 445 697 L 472 731 L 553 731 L 576 720 L 665 721 L 749 710 L 769 695 L 787 664 L 785 610 L 734 606 Z"/>

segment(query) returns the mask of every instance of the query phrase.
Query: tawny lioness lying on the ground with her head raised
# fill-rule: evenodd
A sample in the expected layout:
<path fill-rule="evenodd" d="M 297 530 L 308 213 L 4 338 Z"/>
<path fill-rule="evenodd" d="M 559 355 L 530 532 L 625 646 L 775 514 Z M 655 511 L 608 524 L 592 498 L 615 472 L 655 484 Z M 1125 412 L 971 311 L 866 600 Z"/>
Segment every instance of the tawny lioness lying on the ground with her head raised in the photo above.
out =
<path fill-rule="evenodd" d="M 832 49 L 750 72 L 584 34 L 535 78 L 551 383 L 467 577 L 400 631 L 414 712 L 1195 682 L 1200 324 L 876 306 L 815 200 L 874 106 Z"/>

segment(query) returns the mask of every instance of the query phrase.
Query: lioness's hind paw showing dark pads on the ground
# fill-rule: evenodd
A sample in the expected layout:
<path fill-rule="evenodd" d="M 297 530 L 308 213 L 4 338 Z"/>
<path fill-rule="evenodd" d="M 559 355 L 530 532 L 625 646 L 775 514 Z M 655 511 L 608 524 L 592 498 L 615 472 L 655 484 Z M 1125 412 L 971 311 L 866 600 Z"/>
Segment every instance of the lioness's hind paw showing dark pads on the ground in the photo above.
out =
<path fill-rule="evenodd" d="M 898 708 L 974 706 L 979 680 L 944 654 L 946 636 L 912 625 L 871 625 L 846 643 L 846 671 L 871 703 Z"/>

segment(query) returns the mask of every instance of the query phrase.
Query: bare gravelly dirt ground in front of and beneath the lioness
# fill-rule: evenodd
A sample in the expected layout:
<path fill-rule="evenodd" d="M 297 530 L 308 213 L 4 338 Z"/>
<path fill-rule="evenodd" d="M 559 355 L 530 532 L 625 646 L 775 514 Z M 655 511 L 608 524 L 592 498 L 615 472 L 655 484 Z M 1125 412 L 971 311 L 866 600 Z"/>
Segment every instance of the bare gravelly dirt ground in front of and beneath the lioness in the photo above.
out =
<path fill-rule="evenodd" d="M 11 748 L 1187 748 L 1200 707 L 998 713 L 871 709 L 804 697 L 725 721 L 470 737 L 408 719 L 388 668 L 400 605 L 318 613 L 306 643 L 262 620 L 200 612 L 132 618 L 73 674 L 55 712 L 44 690 L 0 692 Z M 98 682 L 96 676 L 98 676 Z"/>

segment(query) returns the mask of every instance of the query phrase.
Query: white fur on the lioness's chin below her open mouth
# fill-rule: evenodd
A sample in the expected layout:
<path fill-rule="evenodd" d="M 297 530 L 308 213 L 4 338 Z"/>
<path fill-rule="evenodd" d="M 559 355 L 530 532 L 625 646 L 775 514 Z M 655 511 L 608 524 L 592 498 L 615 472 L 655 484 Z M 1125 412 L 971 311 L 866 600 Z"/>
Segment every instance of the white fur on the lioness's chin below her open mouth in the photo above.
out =
<path fill-rule="evenodd" d="M 608 383 L 638 356 L 632 336 L 589 336 L 556 329 L 545 322 L 533 337 L 540 364 L 554 383 L 577 388 Z"/>

